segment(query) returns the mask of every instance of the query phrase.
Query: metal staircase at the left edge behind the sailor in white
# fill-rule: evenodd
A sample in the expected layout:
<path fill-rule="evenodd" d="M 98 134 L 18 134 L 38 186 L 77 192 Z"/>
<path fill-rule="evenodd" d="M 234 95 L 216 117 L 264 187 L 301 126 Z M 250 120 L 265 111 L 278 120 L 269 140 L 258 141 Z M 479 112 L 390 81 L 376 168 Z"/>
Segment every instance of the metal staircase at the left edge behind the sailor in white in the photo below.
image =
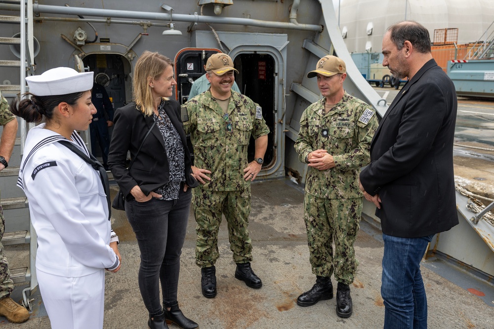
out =
<path fill-rule="evenodd" d="M 2 70 L 5 75 L 0 76 L 0 82 L 4 81 L 0 84 L 0 90 L 4 97 L 13 98 L 26 92 L 25 77 L 34 73 L 33 2 L 32 0 L 0 0 L 0 10 L 2 10 L 0 13 L 5 13 L 5 10 L 12 13 L 12 15 L 0 14 L 0 54 L 2 57 L 10 56 L 10 58 L 0 59 L 0 67 L 19 68 L 19 74 L 8 75 L 5 74 L 8 70 Z M 14 37 L 11 37 L 12 34 L 3 35 L 12 31 L 14 31 Z M 18 54 L 14 56 L 13 52 L 6 50 L 6 47 L 18 49 Z M 15 59 L 16 56 L 20 59 Z M 15 70 L 10 69 L 10 72 L 15 72 Z M 10 80 L 17 82 L 17 77 L 19 77 L 18 84 L 10 83 Z M 29 125 L 22 118 L 17 118 L 17 120 L 19 129 L 9 166 L 0 172 L 1 205 L 5 218 L 5 233 L 1 242 L 3 246 L 8 246 L 4 249 L 10 263 L 14 258 L 16 263 L 19 263 L 19 258 L 23 259 L 19 268 L 10 268 L 10 276 L 13 282 L 21 284 L 22 288 L 29 284 L 29 287 L 22 291 L 22 295 L 24 306 L 31 309 L 29 296 L 38 285 L 36 271 L 34 271 L 36 233 L 31 225 L 27 198 L 24 192 L 16 186 Z M 21 253 L 21 256 L 18 256 L 19 250 L 24 250 L 24 254 Z M 25 255 L 27 250 L 29 250 L 28 257 Z"/>

